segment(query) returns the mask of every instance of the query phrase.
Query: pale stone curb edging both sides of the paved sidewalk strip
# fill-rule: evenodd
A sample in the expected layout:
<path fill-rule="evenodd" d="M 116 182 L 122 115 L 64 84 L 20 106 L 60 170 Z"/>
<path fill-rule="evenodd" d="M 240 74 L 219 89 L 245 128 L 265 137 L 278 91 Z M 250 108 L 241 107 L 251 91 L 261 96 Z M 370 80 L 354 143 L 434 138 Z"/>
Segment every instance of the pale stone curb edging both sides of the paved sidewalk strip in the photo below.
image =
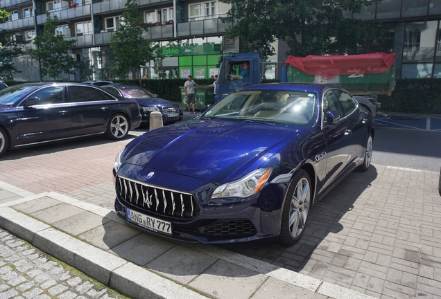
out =
<path fill-rule="evenodd" d="M 8 190 L 12 192 L 11 190 Z M 50 255 L 74 266 L 86 275 L 106 284 L 107 286 L 121 291 L 133 298 L 207 298 L 196 291 L 184 287 L 167 278 L 157 275 L 147 269 L 128 262 L 121 257 L 96 248 L 86 242 L 71 237 L 42 221 L 29 217 L 10 206 L 17 203 L 31 201 L 41 197 L 50 197 L 72 206 L 83 208 L 90 212 L 123 223 L 115 212 L 85 203 L 71 197 L 67 197 L 56 192 L 46 192 L 33 194 L 24 199 L 17 199 L 0 205 L 0 226 L 13 235 L 21 237 L 33 246 L 39 248 Z M 191 250 L 204 253 L 218 260 L 230 262 L 237 266 L 242 266 L 257 273 L 261 273 L 276 280 L 287 282 L 295 287 L 309 290 L 323 296 L 336 299 L 370 299 L 373 297 L 363 293 L 340 287 L 336 284 L 323 282 L 316 278 L 280 268 L 268 262 L 255 260 L 239 253 L 232 253 L 223 248 L 207 244 L 196 244 Z"/>

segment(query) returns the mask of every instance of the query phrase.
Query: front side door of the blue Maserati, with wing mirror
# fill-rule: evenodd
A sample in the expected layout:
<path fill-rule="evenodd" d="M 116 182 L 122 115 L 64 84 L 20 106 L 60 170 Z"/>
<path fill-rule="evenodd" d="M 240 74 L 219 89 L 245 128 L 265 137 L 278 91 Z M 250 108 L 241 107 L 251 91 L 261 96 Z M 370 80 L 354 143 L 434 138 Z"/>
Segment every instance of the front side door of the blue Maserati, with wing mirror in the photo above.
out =
<path fill-rule="evenodd" d="M 326 152 L 326 179 L 324 188 L 327 188 L 332 181 L 336 180 L 347 166 L 349 150 L 351 146 L 351 131 L 347 118 L 344 117 L 343 107 L 331 89 L 323 93 L 322 132 L 327 143 Z M 337 111 L 340 120 L 334 123 L 327 123 L 327 111 Z"/>

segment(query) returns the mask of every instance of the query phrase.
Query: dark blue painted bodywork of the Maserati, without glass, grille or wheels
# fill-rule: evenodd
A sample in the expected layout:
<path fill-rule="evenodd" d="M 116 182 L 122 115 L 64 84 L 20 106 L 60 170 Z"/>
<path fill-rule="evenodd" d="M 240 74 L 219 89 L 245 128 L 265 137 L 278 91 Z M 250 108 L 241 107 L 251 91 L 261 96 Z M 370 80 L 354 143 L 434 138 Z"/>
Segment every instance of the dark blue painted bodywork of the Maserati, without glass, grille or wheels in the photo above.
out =
<path fill-rule="evenodd" d="M 320 95 L 319 107 L 323 91 L 338 89 L 317 84 L 262 84 L 245 90 L 289 90 L 299 85 Z M 207 120 L 202 115 L 202 119 L 153 130 L 131 141 L 121 154 L 118 175 L 196 197 L 201 213 L 191 221 L 153 215 L 172 221 L 175 238 L 189 235 L 199 242 L 217 243 L 277 237 L 285 193 L 295 172 L 300 168 L 309 172 L 314 204 L 363 162 L 367 136 L 374 134 L 372 118 L 363 109 L 322 129 L 324 121 L 318 114 L 312 127 L 290 127 Z M 257 194 L 245 199 L 210 199 L 218 185 L 262 167 L 273 167 L 273 172 Z M 146 179 L 151 172 L 155 175 Z M 126 206 L 144 212 L 117 195 L 115 209 L 123 218 Z M 249 219 L 257 233 L 229 239 L 200 232 L 217 219 Z"/>

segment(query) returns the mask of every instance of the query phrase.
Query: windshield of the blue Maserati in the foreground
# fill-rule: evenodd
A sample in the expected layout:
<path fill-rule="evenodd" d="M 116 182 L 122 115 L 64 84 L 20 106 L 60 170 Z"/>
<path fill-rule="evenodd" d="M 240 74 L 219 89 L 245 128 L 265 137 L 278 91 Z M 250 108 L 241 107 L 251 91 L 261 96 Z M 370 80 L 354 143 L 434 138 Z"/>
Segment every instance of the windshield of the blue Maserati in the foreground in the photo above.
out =
<path fill-rule="evenodd" d="M 202 118 L 309 127 L 317 119 L 317 93 L 306 91 L 237 91 Z"/>

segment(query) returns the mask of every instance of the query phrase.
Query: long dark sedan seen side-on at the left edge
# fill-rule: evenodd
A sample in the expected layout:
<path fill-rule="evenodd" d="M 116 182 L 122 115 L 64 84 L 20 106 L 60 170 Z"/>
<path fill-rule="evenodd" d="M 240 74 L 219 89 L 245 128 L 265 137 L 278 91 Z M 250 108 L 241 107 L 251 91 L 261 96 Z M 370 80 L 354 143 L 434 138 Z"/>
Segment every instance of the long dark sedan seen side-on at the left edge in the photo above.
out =
<path fill-rule="evenodd" d="M 8 149 L 98 134 L 119 140 L 140 124 L 135 100 L 91 85 L 26 83 L 0 91 L 0 155 Z"/>

